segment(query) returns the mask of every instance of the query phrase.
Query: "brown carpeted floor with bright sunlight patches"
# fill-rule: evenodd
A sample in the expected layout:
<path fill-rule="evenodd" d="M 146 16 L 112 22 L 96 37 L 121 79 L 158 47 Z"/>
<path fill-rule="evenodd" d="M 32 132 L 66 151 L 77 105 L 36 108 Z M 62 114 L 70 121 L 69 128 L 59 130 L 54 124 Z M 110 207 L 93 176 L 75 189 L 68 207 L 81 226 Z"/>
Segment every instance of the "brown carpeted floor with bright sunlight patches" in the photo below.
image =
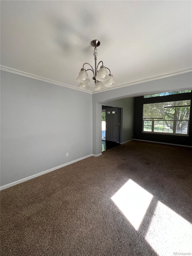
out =
<path fill-rule="evenodd" d="M 118 193 L 127 218 L 111 199 Z M 191 148 L 131 141 L 2 190 L 1 255 L 192 253 L 191 195 Z M 145 206 L 148 196 L 136 228 L 126 203 Z"/>

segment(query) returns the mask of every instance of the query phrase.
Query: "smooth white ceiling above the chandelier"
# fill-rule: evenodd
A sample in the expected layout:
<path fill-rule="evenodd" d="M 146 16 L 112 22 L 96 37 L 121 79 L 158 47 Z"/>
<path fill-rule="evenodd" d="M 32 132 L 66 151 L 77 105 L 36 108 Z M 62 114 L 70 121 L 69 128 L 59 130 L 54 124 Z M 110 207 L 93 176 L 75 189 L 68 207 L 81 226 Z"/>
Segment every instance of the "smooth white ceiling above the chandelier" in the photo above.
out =
<path fill-rule="evenodd" d="M 78 86 L 98 39 L 117 85 L 180 71 L 192 66 L 191 13 L 191 1 L 1 1 L 1 65 Z"/>

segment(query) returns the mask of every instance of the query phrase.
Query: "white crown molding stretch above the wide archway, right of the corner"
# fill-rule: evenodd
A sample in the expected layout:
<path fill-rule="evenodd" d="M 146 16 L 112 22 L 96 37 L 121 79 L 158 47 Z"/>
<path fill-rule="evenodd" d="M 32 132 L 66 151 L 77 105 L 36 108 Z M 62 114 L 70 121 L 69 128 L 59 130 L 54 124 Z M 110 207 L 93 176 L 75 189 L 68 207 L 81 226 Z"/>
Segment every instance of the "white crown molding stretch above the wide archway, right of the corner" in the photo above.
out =
<path fill-rule="evenodd" d="M 171 73 L 167 73 L 167 74 L 163 74 L 163 75 L 158 75 L 158 76 L 155 76 L 155 77 L 148 77 L 148 78 L 144 78 L 144 79 L 141 79 L 141 80 L 116 85 L 114 87 L 107 88 L 107 89 L 104 89 L 102 91 L 93 92 L 93 94 L 99 93 L 99 92 L 105 92 L 105 91 L 109 91 L 109 90 L 114 90 L 114 89 L 130 86 L 130 85 L 134 85 L 134 84 L 138 84 L 138 83 L 145 83 L 145 82 L 149 82 L 149 81 L 152 81 L 152 80 L 158 80 L 158 79 L 165 78 L 165 77 L 172 77 L 172 76 L 176 76 L 176 75 L 179 75 L 179 74 L 188 73 L 188 72 L 191 72 L 191 71 L 192 71 L 192 68 L 185 68 L 185 69 L 182 69 L 182 70 L 179 70 L 179 71 L 176 71 L 176 72 L 171 72 Z"/>

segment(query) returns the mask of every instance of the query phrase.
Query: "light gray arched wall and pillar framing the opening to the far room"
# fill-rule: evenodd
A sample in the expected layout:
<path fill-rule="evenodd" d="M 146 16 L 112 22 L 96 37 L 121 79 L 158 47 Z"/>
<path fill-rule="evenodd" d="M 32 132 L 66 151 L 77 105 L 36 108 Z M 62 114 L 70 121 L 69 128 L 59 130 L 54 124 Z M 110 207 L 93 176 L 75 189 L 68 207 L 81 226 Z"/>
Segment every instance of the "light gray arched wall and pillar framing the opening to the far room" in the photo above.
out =
<path fill-rule="evenodd" d="M 157 92 L 191 90 L 192 72 L 93 94 L 93 154 L 101 153 L 101 104 Z M 106 104 L 107 105 L 107 104 Z"/>

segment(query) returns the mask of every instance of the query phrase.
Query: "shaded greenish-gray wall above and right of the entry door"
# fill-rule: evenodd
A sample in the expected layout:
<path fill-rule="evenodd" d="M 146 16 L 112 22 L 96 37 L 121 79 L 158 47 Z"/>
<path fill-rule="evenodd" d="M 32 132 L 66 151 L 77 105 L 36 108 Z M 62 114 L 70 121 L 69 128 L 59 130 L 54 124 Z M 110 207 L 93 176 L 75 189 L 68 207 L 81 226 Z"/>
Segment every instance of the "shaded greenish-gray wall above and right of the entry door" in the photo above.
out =
<path fill-rule="evenodd" d="M 107 102 L 107 105 L 112 107 L 121 107 L 122 111 L 122 127 L 121 140 L 123 143 L 133 139 L 134 132 L 134 98 L 123 98 L 116 101 Z"/>

